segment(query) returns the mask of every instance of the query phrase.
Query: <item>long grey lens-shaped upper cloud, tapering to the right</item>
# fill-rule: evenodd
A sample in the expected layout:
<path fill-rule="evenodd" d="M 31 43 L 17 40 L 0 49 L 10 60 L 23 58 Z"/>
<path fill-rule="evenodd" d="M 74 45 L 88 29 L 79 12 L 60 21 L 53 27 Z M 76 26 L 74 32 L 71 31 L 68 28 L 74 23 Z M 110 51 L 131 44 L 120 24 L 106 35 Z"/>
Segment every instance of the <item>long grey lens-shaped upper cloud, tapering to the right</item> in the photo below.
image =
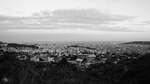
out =
<path fill-rule="evenodd" d="M 116 21 L 132 19 L 131 16 L 113 15 L 100 12 L 96 9 L 66 9 L 44 11 L 37 13 L 42 19 L 47 21 L 61 23 L 79 23 L 79 24 L 109 24 Z M 41 19 L 39 18 L 39 19 Z"/>

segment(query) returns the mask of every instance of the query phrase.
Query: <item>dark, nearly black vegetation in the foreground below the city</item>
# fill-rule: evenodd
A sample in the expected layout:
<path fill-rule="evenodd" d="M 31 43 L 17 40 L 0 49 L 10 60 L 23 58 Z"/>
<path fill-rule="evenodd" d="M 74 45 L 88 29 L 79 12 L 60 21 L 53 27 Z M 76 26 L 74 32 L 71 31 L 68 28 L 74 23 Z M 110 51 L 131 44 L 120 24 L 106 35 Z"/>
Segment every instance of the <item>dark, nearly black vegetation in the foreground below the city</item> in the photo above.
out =
<path fill-rule="evenodd" d="M 80 69 L 66 59 L 59 63 L 20 61 L 13 53 L 0 56 L 0 84 L 148 84 L 150 54 L 118 64 L 93 64 Z"/>

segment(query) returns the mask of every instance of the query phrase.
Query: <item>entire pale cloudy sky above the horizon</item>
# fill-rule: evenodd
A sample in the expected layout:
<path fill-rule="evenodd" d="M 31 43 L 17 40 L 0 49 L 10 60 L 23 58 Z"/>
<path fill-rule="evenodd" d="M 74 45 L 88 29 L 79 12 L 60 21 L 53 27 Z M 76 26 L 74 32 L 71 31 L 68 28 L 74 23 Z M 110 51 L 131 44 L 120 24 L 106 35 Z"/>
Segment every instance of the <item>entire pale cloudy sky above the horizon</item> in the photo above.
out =
<path fill-rule="evenodd" d="M 0 40 L 150 40 L 150 0 L 0 0 Z"/>

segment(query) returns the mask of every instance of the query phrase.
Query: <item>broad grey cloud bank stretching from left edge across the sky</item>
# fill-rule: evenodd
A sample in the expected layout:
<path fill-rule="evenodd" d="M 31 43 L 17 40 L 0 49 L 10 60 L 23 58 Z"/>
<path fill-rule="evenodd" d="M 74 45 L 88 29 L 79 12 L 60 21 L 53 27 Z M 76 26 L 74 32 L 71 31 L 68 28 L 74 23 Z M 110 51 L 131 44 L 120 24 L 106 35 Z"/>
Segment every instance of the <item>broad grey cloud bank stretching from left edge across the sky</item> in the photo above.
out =
<path fill-rule="evenodd" d="M 96 9 L 62 9 L 42 11 L 28 17 L 0 16 L 0 29 L 88 29 L 97 31 L 133 31 L 116 25 L 134 19 Z"/>

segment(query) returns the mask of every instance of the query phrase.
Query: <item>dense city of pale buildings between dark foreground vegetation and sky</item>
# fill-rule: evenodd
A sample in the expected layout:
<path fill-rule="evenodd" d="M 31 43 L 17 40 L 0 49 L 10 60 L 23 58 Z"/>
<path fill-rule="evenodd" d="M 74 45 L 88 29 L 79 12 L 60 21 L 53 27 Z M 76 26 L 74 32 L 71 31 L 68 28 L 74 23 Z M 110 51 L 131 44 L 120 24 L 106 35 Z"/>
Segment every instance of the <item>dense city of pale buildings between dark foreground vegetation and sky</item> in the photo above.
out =
<path fill-rule="evenodd" d="M 78 44 L 79 43 L 69 45 L 60 44 L 61 46 L 57 44 L 23 46 L 23 44 L 1 43 L 1 51 L 14 52 L 18 60 L 51 63 L 59 62 L 65 58 L 69 63 L 83 66 L 106 62 L 117 64 L 120 61 L 136 59 L 140 57 L 140 55 L 150 52 L 148 50 L 149 47 L 140 44 L 105 44 L 101 46 L 90 46 L 90 43 L 85 43 L 85 46 Z M 3 55 L 2 52 L 1 55 Z"/>

